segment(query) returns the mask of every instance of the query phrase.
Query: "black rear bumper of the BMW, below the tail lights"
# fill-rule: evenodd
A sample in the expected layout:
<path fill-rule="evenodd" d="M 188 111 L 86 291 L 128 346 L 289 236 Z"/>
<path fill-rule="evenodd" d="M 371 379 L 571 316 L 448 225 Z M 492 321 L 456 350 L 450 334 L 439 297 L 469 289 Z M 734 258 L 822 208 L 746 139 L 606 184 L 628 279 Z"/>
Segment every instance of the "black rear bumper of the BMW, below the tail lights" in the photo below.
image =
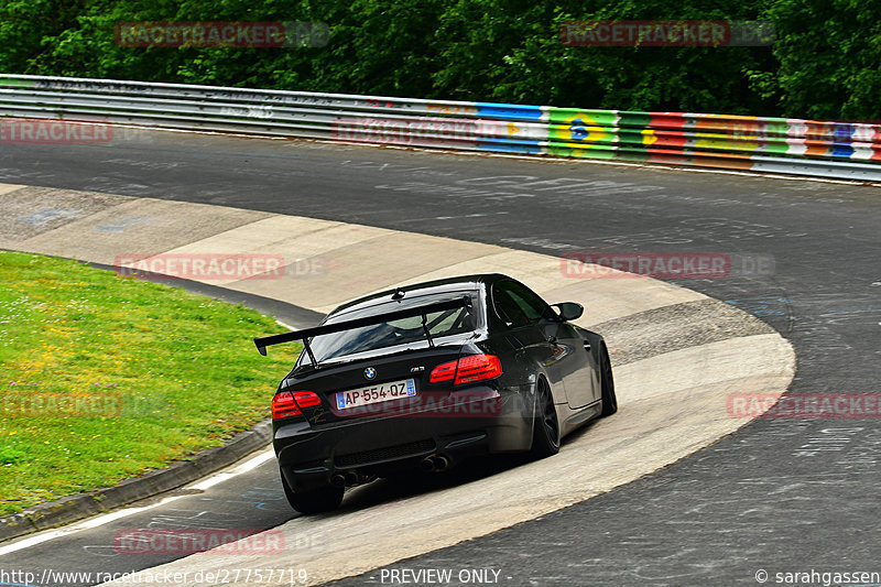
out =
<path fill-rule="evenodd" d="M 416 467 L 432 455 L 455 463 L 480 454 L 527 450 L 531 443 L 531 405 L 525 407 L 519 392 L 494 391 L 453 413 L 356 417 L 319 426 L 291 423 L 278 426 L 273 438 L 282 474 L 295 491 L 326 487 L 336 474 L 382 475 Z"/>

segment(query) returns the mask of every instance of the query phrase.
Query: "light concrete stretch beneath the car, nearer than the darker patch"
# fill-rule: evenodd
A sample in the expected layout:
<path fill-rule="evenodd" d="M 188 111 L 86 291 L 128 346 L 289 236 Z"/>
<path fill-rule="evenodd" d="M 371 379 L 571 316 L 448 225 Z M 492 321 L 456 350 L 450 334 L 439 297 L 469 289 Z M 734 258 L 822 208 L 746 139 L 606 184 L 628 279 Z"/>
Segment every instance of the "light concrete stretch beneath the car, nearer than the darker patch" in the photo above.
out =
<path fill-rule="evenodd" d="M 305 568 L 306 584 L 317 585 L 489 534 L 609 491 L 736 431 L 746 420 L 729 416 L 726 398 L 746 390 L 782 393 L 793 376 L 792 359 L 788 343 L 766 334 L 632 362 L 616 369 L 618 413 L 564 441 L 553 458 L 455 489 L 365 511 L 297 518 L 280 526 L 286 544 L 323 537 L 312 548 L 285 551 L 271 559 L 196 555 L 156 570 L 177 573 L 196 565 L 206 574 L 224 568 Z M 368 488 L 354 490 L 347 499 L 357 500 Z"/>

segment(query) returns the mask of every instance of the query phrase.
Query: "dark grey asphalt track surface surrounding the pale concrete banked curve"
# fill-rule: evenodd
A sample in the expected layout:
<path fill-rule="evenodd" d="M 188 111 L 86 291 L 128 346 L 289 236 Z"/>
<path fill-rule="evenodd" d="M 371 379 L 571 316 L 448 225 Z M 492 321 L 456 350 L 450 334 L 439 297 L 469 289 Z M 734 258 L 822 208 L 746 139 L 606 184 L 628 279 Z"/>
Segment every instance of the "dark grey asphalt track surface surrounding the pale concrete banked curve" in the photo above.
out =
<path fill-rule="evenodd" d="M 791 393 L 878 391 L 878 187 L 168 132 L 118 135 L 112 145 L 3 145 L 0 182 L 219 204 L 545 254 L 772 259 L 773 271 L 765 265 L 762 274 L 675 283 L 750 312 L 786 337 L 798 360 Z M 770 574 L 768 584 L 777 573 L 881 572 L 879 447 L 877 415 L 759 420 L 609 493 L 392 568 L 449 568 L 450 585 L 459 584 L 459 570 L 493 569 L 499 584 L 516 586 L 755 585 L 760 570 Z M 271 461 L 257 471 L 262 479 L 278 475 Z M 466 468 L 445 482 L 490 472 Z M 203 520 L 239 519 L 243 528 L 295 515 L 278 485 L 249 485 L 251 478 L 182 496 L 157 515 L 188 528 L 203 511 Z M 352 506 L 423 489 L 378 487 Z M 184 522 L 170 519 L 175 508 Z M 98 556 L 102 545 L 83 532 L 0 561 L 95 568 L 84 546 Z M 143 566 L 162 562 L 151 557 Z M 100 565 L 130 569 L 131 561 L 109 556 Z M 392 568 L 339 584 L 389 584 Z"/>

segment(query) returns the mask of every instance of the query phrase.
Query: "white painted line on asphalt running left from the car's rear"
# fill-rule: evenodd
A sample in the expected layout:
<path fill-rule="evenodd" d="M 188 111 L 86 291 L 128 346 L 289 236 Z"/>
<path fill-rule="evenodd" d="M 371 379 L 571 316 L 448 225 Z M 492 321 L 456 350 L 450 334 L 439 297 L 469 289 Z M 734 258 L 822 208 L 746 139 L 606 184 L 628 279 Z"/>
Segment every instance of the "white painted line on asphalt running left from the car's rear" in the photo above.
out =
<path fill-rule="evenodd" d="M 195 481 L 192 485 L 184 486 L 182 489 L 203 489 L 203 490 L 208 489 L 209 487 L 213 487 L 217 483 L 227 481 L 229 479 L 232 479 L 233 477 L 253 470 L 254 468 L 259 467 L 260 465 L 262 465 L 263 463 L 273 457 L 275 457 L 275 453 L 272 450 L 271 447 L 267 448 L 262 453 L 259 453 L 258 455 L 249 458 L 248 460 L 246 460 L 240 465 L 231 465 L 230 466 L 231 470 L 228 471 L 224 470 L 216 472 L 209 477 Z M 43 542 L 48 542 L 51 540 L 55 540 L 62 536 L 67 536 L 76 532 L 79 532 L 81 530 L 89 530 L 93 528 L 98 528 L 105 524 L 109 524 L 110 522 L 115 522 L 119 519 L 128 518 L 129 515 L 134 515 L 135 513 L 141 513 L 148 510 L 152 510 L 154 508 L 159 508 L 160 506 L 165 506 L 166 503 L 171 503 L 172 501 L 176 501 L 185 497 L 188 496 L 170 496 L 167 498 L 162 498 L 156 503 L 151 503 L 150 506 L 128 507 L 119 511 L 95 515 L 84 522 L 79 522 L 78 524 L 73 524 L 55 530 L 45 530 L 36 534 L 31 534 L 28 537 L 21 539 L 6 546 L 0 546 L 0 556 L 9 553 L 14 553 L 15 551 L 21 551 L 23 548 L 30 548 L 31 546 L 41 544 Z"/>

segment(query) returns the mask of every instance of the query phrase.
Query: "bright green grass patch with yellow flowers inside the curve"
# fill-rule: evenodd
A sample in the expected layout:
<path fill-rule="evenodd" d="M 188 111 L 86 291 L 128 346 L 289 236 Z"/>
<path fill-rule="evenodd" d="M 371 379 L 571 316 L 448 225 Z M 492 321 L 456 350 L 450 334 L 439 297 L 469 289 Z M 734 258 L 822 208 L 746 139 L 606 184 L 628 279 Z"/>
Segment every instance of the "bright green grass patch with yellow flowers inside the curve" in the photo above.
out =
<path fill-rule="evenodd" d="M 301 348 L 267 316 L 75 261 L 0 251 L 0 513 L 111 486 L 269 415 Z"/>

